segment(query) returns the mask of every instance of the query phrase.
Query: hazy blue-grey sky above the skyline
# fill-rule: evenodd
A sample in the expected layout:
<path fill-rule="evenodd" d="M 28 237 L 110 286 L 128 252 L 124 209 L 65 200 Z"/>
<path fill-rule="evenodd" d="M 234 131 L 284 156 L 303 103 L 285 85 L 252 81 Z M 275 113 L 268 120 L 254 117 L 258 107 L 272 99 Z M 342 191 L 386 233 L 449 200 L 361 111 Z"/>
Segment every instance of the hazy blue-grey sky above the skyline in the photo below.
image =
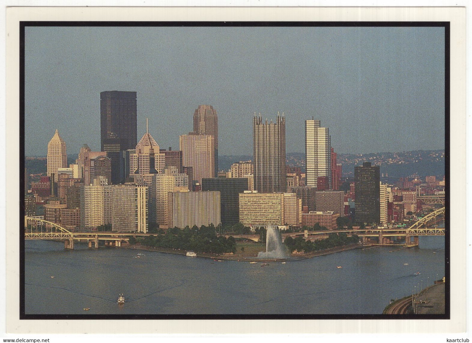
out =
<path fill-rule="evenodd" d="M 285 112 L 287 152 L 304 120 L 339 153 L 444 148 L 442 27 L 26 27 L 25 154 L 100 149 L 100 92 L 137 92 L 138 140 L 178 150 L 201 104 L 219 153 L 252 155 L 252 117 Z"/>

